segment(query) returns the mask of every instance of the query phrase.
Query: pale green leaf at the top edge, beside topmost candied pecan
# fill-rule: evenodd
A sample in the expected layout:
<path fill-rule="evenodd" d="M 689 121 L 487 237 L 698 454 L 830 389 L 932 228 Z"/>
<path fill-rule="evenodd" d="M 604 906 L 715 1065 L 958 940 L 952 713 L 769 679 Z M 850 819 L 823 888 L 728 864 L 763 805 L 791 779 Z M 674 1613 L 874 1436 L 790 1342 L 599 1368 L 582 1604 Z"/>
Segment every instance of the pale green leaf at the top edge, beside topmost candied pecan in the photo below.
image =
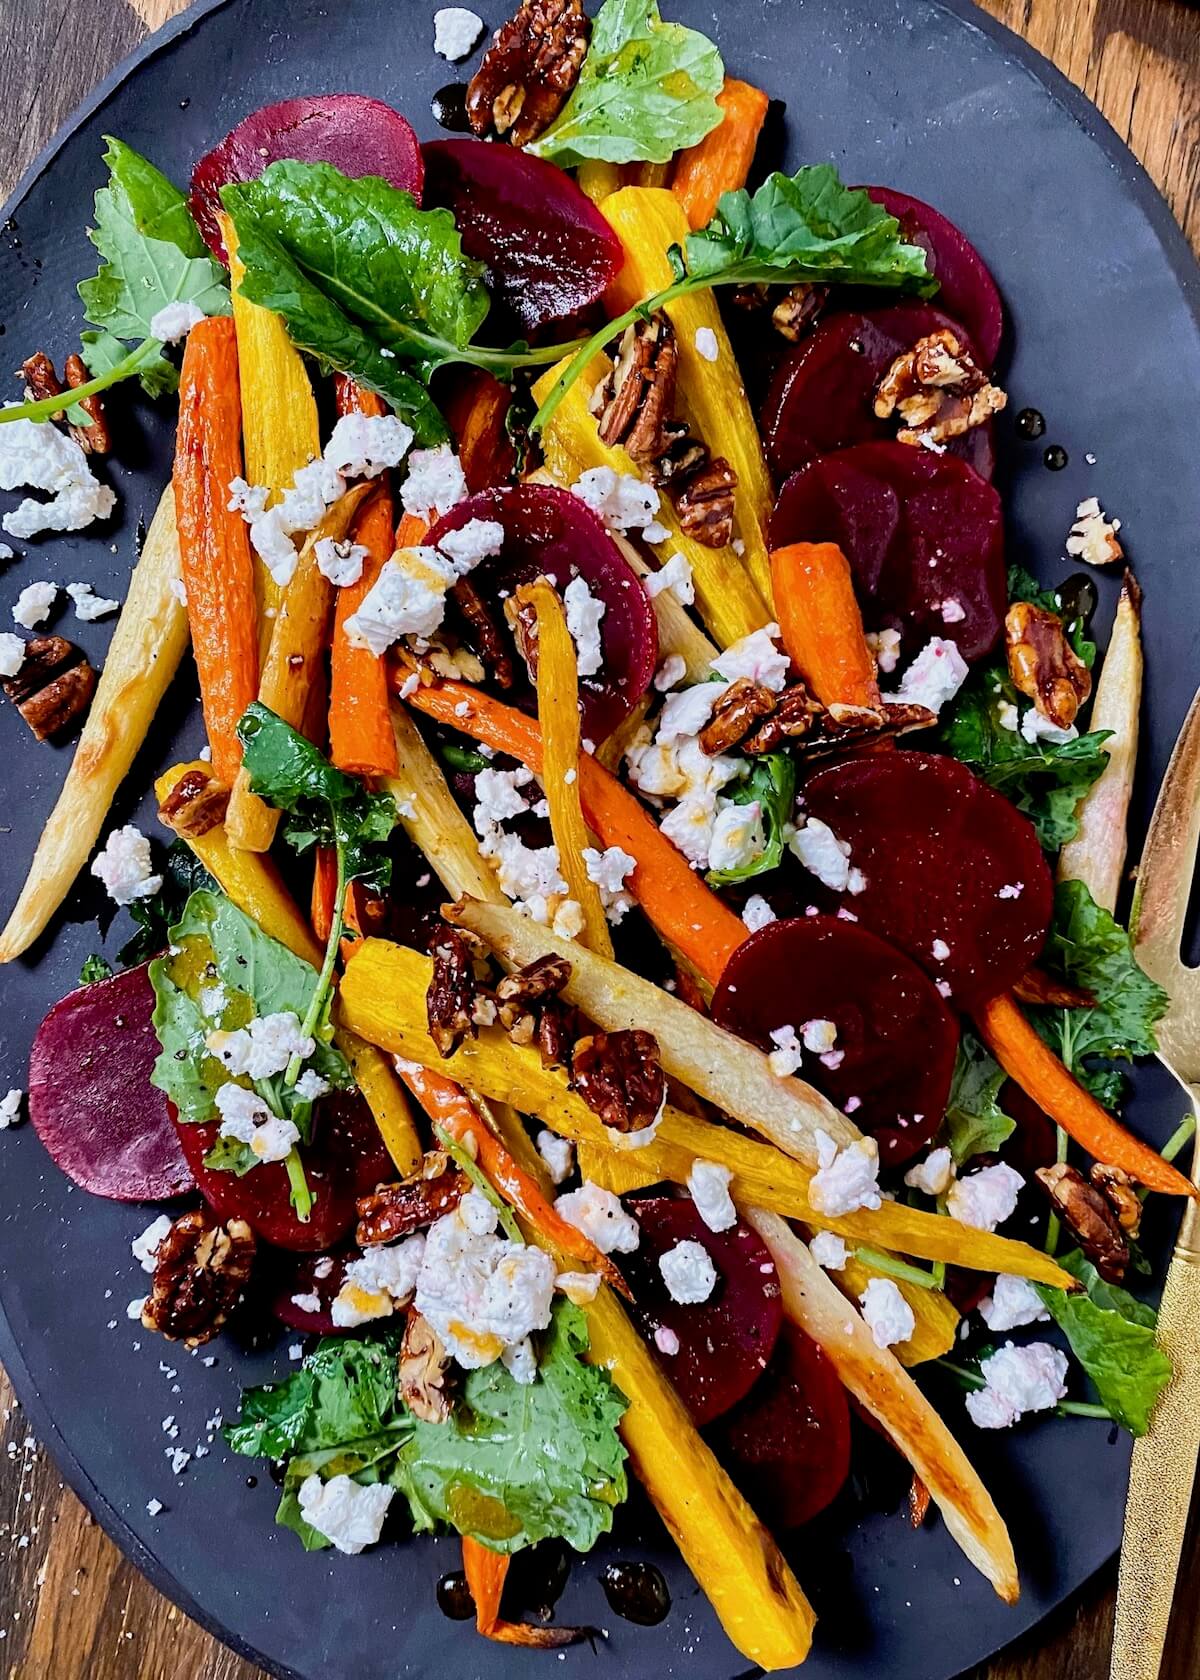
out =
<path fill-rule="evenodd" d="M 669 163 L 721 123 L 723 86 L 706 35 L 664 24 L 655 0 L 605 0 L 571 97 L 526 151 L 565 170 L 587 158 Z"/>

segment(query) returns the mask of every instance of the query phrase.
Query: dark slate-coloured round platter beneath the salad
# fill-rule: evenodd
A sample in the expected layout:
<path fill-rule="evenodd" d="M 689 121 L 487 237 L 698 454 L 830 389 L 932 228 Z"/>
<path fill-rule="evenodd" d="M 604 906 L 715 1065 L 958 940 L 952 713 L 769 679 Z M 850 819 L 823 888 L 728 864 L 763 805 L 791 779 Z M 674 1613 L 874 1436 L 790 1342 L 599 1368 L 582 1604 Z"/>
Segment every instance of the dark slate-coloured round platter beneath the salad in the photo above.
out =
<path fill-rule="evenodd" d="M 1146 588 L 1145 816 L 1197 680 L 1200 605 L 1200 274 L 1170 213 L 1097 113 L 968 0 L 729 0 L 716 17 L 701 0 L 671 0 L 666 8 L 714 34 L 734 74 L 787 101 L 787 166 L 834 158 L 845 180 L 928 198 L 992 264 L 1013 321 L 1005 378 L 1012 403 L 1000 427 L 1010 551 L 1042 576 L 1062 578 L 1076 502 L 1099 494 L 1124 519 Z M 484 0 L 481 10 L 489 27 L 506 15 L 501 0 Z M 378 94 L 430 138 L 430 97 L 452 79 L 432 54 L 432 0 L 202 0 L 99 89 L 8 205 L 0 232 L 5 366 L 39 346 L 62 354 L 76 339 L 74 286 L 94 267 L 84 228 L 103 180 L 104 133 L 185 181 L 195 158 L 244 113 L 296 92 Z M 1047 417 L 1037 444 L 1022 442 L 1012 423 L 1025 405 Z M 1050 444 L 1067 450 L 1066 470 L 1042 465 Z M 166 410 L 139 405 L 123 415 L 109 469 L 119 492 L 111 529 L 22 544 L 25 558 L 3 575 L 5 618 L 18 588 L 35 578 L 91 578 L 103 593 L 124 593 L 138 522 L 153 512 L 170 450 Z M 1101 623 L 1109 583 L 1103 595 Z M 103 660 L 104 625 L 72 620 L 67 633 Z M 141 791 L 198 738 L 185 670 L 113 820 L 138 820 L 153 832 Z M 3 707 L 0 761 L 7 906 L 67 754 L 34 746 Z M 101 948 L 92 887 L 84 880 L 52 936 L 3 974 L 5 1087 L 25 1084 L 37 1021 Z M 128 932 L 123 922 L 104 941 L 109 954 Z M 1143 1070 L 1133 1122 L 1161 1141 L 1178 1116 L 1176 1092 L 1156 1070 Z M 637 1502 L 617 1537 L 575 1566 L 558 1606 L 558 1620 L 592 1623 L 608 1636 L 570 1650 L 560 1665 L 477 1641 L 439 1614 L 434 1586 L 457 1566 L 454 1541 L 400 1539 L 358 1559 L 304 1556 L 291 1534 L 272 1529 L 269 1477 L 247 1487 L 252 1467 L 227 1458 L 218 1436 L 171 1477 L 165 1448 L 207 1446 L 210 1420 L 232 1415 L 242 1381 L 289 1368 L 291 1337 L 245 1351 L 217 1342 L 212 1366 L 155 1344 L 124 1310 L 145 1292 L 128 1245 L 150 1210 L 74 1191 L 29 1127 L 5 1134 L 2 1147 L 0 1356 L 34 1426 L 109 1534 L 240 1651 L 272 1673 L 308 1680 L 497 1680 L 528 1675 L 534 1662 L 565 1675 L 630 1680 L 745 1673 L 745 1660 Z M 1151 1240 L 1161 1260 L 1168 1215 L 1156 1218 Z M 1012 1524 L 1020 1604 L 1000 1604 L 939 1524 L 909 1530 L 903 1475 L 869 1477 L 793 1549 L 820 1613 L 812 1680 L 946 1680 L 1034 1625 L 1118 1546 L 1126 1440 L 1077 1420 L 983 1436 L 966 1423 L 960 1396 L 941 1398 L 958 1433 L 970 1433 Z M 178 1428 L 173 1440 L 163 1433 L 166 1416 Z M 166 1509 L 150 1517 L 155 1499 Z M 634 1628 L 612 1616 L 598 1572 L 613 1557 L 662 1564 L 674 1606 L 661 1626 Z"/>

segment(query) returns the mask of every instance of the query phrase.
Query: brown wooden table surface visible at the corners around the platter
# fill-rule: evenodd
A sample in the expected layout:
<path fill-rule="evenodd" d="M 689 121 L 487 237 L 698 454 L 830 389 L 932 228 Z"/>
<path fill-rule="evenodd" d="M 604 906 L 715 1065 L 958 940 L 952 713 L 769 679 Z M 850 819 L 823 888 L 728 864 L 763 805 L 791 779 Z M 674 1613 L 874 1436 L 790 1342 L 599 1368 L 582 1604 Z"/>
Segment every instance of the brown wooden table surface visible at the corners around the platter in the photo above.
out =
<path fill-rule="evenodd" d="M 3 0 L 0 198 L 84 94 L 185 3 Z M 983 0 L 983 8 L 1099 104 L 1200 252 L 1200 10 L 1183 0 Z M 0 1418 L 0 1675 L 257 1680 L 254 1665 L 143 1581 L 64 1488 L 3 1373 Z M 971 1680 L 1103 1680 L 1113 1588 L 1114 1569 Z M 1200 1500 L 1178 1604 L 1163 1680 L 1197 1680 Z"/>

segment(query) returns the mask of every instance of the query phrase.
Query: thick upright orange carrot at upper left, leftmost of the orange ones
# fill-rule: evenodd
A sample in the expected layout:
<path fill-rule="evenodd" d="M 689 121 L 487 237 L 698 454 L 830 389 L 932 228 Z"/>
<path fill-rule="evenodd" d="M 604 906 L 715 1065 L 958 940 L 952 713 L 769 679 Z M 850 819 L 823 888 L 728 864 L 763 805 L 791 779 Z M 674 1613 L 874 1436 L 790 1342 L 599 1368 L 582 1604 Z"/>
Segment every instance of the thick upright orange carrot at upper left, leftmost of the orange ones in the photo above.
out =
<path fill-rule="evenodd" d="M 245 521 L 230 512 L 242 474 L 237 334 L 229 316 L 188 333 L 180 373 L 175 516 L 212 768 L 232 786 L 242 763 L 237 721 L 259 692 L 259 620 Z"/>

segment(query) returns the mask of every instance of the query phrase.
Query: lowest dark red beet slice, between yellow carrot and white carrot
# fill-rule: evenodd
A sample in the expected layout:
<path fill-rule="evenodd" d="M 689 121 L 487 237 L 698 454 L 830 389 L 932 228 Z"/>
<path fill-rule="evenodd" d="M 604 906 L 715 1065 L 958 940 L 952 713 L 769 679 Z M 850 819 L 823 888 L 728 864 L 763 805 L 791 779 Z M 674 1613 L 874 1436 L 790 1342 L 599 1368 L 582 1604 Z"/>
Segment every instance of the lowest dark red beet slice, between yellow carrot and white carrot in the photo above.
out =
<path fill-rule="evenodd" d="M 850 1408 L 832 1361 L 785 1324 L 763 1381 L 718 1430 L 716 1448 L 755 1512 L 776 1530 L 825 1510 L 850 1470 Z"/>

